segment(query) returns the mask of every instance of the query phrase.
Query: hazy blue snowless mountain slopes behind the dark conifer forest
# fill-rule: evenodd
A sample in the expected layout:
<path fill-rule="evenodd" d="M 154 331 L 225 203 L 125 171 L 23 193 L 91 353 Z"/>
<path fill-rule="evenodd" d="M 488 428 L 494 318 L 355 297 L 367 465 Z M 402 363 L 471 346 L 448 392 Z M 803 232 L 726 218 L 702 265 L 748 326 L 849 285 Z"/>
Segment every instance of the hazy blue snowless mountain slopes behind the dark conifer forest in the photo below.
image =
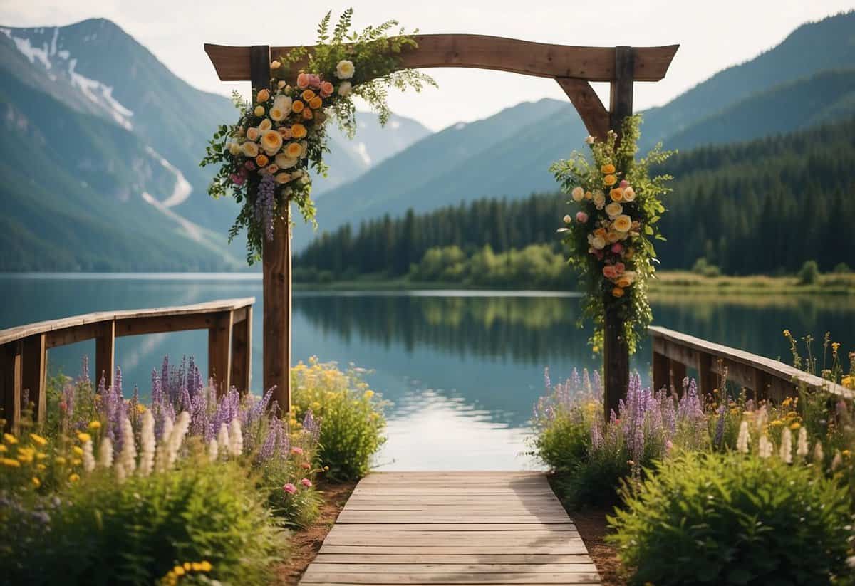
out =
<path fill-rule="evenodd" d="M 671 138 L 683 149 L 750 140 L 846 118 L 855 113 L 851 73 L 846 73 L 853 64 L 855 12 L 799 26 L 775 48 L 643 112 L 640 147 L 663 140 L 670 148 Z M 836 70 L 841 71 L 828 73 Z M 452 127 L 422 139 L 325 194 L 318 204 L 321 229 L 408 208 L 428 211 L 483 196 L 553 190 L 551 162 L 581 147 L 587 134 L 575 109 L 554 100 L 508 108 L 475 125 L 507 132 L 496 140 L 492 134 L 463 132 L 464 126 L 458 133 Z M 309 231 L 296 231 L 295 247 L 310 237 Z"/>

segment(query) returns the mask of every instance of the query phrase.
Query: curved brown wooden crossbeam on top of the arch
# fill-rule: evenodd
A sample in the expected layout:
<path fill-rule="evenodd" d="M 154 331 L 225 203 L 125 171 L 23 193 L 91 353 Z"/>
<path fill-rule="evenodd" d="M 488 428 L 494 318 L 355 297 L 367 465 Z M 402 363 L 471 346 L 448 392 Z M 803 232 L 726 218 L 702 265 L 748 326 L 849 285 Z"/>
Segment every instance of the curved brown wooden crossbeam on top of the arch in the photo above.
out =
<path fill-rule="evenodd" d="M 471 34 L 413 35 L 418 49 L 401 54 L 400 68 L 475 67 L 547 78 L 610 81 L 615 77 L 614 47 L 577 47 L 532 43 L 515 38 Z M 637 81 L 663 79 L 680 45 L 640 47 L 632 76 Z M 251 81 L 251 47 L 205 44 L 205 52 L 223 81 Z M 294 47 L 273 47 L 274 57 Z M 309 51 L 314 47 L 307 47 Z M 292 73 L 304 62 L 297 62 Z"/>

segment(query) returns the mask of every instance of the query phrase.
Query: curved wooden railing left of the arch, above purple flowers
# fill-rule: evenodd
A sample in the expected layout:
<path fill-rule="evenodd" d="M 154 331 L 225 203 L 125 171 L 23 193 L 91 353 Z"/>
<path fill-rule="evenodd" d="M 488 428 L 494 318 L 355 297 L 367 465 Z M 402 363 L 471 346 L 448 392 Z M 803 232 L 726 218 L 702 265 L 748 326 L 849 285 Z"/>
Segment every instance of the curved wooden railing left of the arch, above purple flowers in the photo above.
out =
<path fill-rule="evenodd" d="M 129 309 L 75 315 L 0 330 L 0 407 L 7 426 L 21 418 L 28 391 L 38 420 L 45 413 L 47 351 L 95 340 L 95 375 L 107 384 L 115 372 L 115 338 L 167 331 L 208 330 L 208 372 L 220 389 L 250 388 L 252 304 L 255 297 L 174 308 Z M 25 406 L 26 407 L 26 406 Z"/>

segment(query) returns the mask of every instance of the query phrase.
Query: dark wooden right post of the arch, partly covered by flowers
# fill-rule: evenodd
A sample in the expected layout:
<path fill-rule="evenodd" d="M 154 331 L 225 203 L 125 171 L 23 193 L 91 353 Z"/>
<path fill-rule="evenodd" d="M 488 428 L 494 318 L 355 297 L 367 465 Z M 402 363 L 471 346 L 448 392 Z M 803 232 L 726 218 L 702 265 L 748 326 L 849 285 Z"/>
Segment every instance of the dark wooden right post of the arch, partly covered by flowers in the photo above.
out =
<path fill-rule="evenodd" d="M 633 77 L 635 70 L 632 47 L 615 47 L 615 75 L 611 80 L 609 125 L 621 138 L 623 119 L 633 113 Z M 605 293 L 609 307 L 610 293 Z M 629 346 L 623 331 L 623 319 L 616 308 L 604 315 L 604 396 L 605 419 L 612 409 L 617 411 L 619 401 L 626 397 L 629 386 Z"/>

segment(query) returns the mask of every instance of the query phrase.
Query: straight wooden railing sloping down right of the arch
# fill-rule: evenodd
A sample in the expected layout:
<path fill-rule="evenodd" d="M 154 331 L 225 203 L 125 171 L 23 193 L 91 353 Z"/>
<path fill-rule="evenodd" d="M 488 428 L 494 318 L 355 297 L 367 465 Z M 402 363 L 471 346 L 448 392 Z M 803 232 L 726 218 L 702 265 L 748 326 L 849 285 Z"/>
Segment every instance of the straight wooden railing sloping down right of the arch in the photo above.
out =
<path fill-rule="evenodd" d="M 855 397 L 855 392 L 840 384 L 830 383 L 778 360 L 707 342 L 668 328 L 652 326 L 647 331 L 653 343 L 654 389 L 669 386 L 681 389 L 688 366 L 698 371 L 699 391 L 703 394 L 720 388 L 722 374 L 727 372 L 728 381 L 754 391 L 758 398 L 781 401 L 793 396 L 800 385 L 828 390 L 847 398 Z"/>

